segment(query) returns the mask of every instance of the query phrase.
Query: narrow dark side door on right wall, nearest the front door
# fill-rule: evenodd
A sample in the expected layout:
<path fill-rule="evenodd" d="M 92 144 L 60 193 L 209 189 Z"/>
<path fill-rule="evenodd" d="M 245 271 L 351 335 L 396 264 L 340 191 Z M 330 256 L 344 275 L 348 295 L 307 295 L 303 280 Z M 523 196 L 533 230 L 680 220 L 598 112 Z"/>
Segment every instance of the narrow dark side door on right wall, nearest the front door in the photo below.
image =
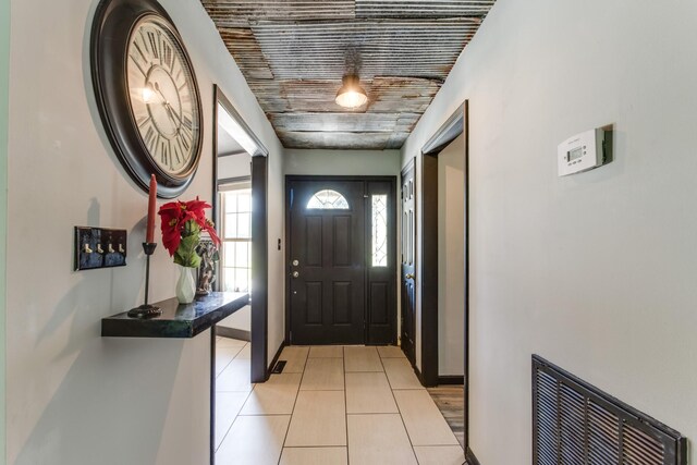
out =
<path fill-rule="evenodd" d="M 402 350 L 416 363 L 416 198 L 414 164 L 402 171 Z"/>

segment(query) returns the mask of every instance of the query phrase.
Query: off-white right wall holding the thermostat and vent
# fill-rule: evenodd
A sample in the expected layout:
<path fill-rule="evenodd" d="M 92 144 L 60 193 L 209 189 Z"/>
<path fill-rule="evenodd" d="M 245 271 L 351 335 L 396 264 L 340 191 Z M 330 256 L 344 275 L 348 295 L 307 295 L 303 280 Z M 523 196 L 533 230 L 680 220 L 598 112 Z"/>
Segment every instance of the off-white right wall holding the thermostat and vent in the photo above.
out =
<path fill-rule="evenodd" d="M 650 7 L 499 0 L 403 147 L 469 99 L 482 464 L 530 463 L 534 353 L 697 438 L 697 3 Z M 557 145 L 607 123 L 615 161 L 558 178 Z"/>

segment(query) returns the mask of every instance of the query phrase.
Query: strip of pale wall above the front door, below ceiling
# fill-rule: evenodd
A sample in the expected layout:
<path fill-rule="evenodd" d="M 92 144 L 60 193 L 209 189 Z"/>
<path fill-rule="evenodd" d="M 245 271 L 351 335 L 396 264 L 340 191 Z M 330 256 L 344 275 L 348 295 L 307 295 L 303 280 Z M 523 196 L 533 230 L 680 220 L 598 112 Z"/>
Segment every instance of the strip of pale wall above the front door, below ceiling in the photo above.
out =
<path fill-rule="evenodd" d="M 400 174 L 399 150 L 285 150 L 285 174 Z"/>

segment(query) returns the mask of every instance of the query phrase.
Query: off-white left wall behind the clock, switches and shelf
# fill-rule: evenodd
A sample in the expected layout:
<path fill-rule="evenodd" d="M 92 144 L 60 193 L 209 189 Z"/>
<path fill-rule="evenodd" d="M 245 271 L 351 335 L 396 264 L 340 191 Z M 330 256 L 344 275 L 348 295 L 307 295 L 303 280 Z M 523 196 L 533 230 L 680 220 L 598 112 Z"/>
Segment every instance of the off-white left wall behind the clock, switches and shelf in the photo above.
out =
<path fill-rule="evenodd" d="M 11 2 L 8 462 L 203 464 L 209 333 L 187 341 L 100 336 L 102 317 L 143 299 L 147 196 L 115 159 L 96 110 L 88 49 L 97 3 Z M 182 197 L 212 195 L 213 83 L 271 151 L 270 184 L 282 184 L 281 146 L 203 7 L 162 4 L 192 56 L 205 115 L 200 168 Z M 281 192 L 269 198 L 279 210 Z M 127 229 L 129 266 L 73 272 L 73 227 L 86 224 Z M 280 234 L 282 224 L 270 231 Z M 271 260 L 280 254 L 273 247 Z M 176 273 L 161 246 L 152 271 L 151 299 L 173 295 Z M 276 274 L 269 289 L 282 286 Z M 282 298 L 269 298 L 278 311 Z M 270 316 L 279 321 L 271 352 L 282 340 L 279 315 Z"/>

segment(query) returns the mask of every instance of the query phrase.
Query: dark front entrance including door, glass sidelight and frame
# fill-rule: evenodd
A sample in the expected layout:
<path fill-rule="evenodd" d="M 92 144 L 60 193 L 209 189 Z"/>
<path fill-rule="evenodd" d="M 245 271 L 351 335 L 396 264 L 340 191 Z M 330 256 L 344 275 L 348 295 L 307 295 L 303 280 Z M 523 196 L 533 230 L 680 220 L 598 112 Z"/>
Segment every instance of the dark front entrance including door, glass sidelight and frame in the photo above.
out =
<path fill-rule="evenodd" d="M 396 179 L 286 176 L 286 341 L 396 342 Z"/>

